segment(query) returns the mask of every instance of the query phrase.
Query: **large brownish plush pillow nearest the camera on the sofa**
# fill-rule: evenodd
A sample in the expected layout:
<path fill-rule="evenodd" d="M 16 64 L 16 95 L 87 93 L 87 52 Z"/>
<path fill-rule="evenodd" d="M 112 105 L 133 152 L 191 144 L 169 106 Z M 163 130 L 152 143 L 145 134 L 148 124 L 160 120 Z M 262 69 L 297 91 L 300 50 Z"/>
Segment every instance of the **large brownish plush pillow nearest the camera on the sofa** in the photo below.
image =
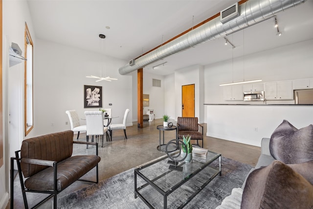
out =
<path fill-rule="evenodd" d="M 290 166 L 273 161 L 250 173 L 241 209 L 312 209 L 313 185 Z"/>

